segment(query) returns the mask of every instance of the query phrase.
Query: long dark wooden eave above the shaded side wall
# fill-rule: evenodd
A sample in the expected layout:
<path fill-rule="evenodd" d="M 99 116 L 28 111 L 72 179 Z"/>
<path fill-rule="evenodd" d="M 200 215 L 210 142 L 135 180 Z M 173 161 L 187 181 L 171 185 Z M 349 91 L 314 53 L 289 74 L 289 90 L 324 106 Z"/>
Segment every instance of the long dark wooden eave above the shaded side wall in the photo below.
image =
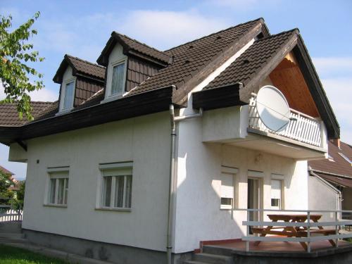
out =
<path fill-rule="evenodd" d="M 108 103 L 100 103 L 64 115 L 27 123 L 21 127 L 0 127 L 0 143 L 44 137 L 83 127 L 92 127 L 141 115 L 167 111 L 175 86 L 163 87 Z"/>

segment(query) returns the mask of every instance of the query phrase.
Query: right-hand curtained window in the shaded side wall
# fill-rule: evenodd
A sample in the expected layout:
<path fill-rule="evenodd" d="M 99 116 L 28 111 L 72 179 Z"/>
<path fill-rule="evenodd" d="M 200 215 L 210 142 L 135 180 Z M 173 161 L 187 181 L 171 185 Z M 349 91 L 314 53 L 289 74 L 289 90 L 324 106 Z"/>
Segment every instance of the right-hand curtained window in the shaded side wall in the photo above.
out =
<path fill-rule="evenodd" d="M 132 166 L 130 166 L 130 164 L 131 163 L 115 163 L 117 168 L 101 169 L 101 208 L 131 208 Z M 113 167 L 114 165 L 109 164 L 108 166 Z M 101 165 L 101 167 L 104 166 Z"/>

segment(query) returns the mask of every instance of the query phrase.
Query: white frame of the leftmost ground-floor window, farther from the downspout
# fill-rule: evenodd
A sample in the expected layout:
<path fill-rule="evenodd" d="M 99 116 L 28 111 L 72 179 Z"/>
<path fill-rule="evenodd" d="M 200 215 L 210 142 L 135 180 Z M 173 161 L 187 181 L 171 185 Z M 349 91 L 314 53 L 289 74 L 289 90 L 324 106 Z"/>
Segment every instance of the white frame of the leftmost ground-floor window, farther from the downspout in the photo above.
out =
<path fill-rule="evenodd" d="M 63 168 L 48 168 L 48 177 L 46 183 L 46 194 L 44 199 L 44 206 L 54 206 L 67 208 L 68 206 L 68 193 L 70 189 L 70 171 L 68 167 Z M 59 199 L 59 180 L 63 180 L 63 203 L 58 203 Z M 55 180 L 55 197 L 54 203 L 51 203 L 51 180 Z M 67 185 L 67 187 L 66 187 Z"/>

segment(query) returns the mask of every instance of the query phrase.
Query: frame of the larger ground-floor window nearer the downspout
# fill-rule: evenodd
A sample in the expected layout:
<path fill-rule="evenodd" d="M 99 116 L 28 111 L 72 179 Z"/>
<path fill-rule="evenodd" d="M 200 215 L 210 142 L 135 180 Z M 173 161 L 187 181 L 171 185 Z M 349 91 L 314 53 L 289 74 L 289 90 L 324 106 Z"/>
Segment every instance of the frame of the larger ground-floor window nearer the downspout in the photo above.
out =
<path fill-rule="evenodd" d="M 132 186 L 133 186 L 133 168 L 132 163 L 106 163 L 99 165 L 100 175 L 99 175 L 99 198 L 96 203 L 96 210 L 122 210 L 131 211 L 132 210 Z M 104 177 L 111 177 L 111 196 L 110 196 L 110 206 L 105 205 L 105 193 L 104 191 Z M 122 191 L 122 207 L 115 206 L 115 199 L 118 195 L 116 191 L 116 180 L 118 177 L 123 177 L 123 191 Z M 130 177 L 131 187 L 130 187 L 130 206 L 126 206 L 126 195 L 127 195 L 127 179 Z"/>

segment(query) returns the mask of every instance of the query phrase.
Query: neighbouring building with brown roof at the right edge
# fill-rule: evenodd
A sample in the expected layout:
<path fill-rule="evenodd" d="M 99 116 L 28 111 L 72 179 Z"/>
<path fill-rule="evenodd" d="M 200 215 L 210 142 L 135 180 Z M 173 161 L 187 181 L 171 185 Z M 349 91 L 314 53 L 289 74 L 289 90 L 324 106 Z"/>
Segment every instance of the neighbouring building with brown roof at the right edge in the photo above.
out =
<path fill-rule="evenodd" d="M 309 161 L 310 209 L 352 210 L 352 146 L 339 139 L 329 142 L 328 158 Z M 325 201 L 322 203 L 322 201 Z M 351 218 L 352 214 L 343 215 Z"/>

